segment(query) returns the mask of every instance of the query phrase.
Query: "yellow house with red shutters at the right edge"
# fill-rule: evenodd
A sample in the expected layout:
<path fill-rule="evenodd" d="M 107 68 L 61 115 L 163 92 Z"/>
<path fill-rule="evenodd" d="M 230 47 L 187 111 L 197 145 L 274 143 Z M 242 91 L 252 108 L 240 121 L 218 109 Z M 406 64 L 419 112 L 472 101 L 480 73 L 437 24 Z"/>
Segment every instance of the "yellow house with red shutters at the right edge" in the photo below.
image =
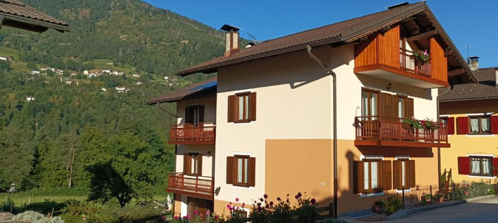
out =
<path fill-rule="evenodd" d="M 479 83 L 439 92 L 451 143 L 441 148 L 441 169 L 451 169 L 454 181 L 488 181 L 498 175 L 498 67 L 479 69 L 478 57 L 469 62 Z"/>

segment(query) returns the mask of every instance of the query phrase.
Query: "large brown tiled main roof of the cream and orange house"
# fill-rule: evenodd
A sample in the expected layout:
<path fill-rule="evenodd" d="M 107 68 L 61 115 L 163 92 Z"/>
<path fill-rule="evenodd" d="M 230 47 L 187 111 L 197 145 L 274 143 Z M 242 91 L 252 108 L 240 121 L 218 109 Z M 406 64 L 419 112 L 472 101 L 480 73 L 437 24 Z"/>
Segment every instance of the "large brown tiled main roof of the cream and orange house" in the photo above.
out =
<path fill-rule="evenodd" d="M 217 68 L 222 66 L 301 50 L 305 49 L 306 45 L 319 46 L 332 43 L 340 44 L 352 42 L 365 35 L 378 31 L 386 25 L 394 24 L 424 10 L 432 15 L 432 12 L 424 1 L 401 5 L 373 14 L 267 40 L 249 48 L 241 49 L 241 51 L 235 55 L 226 58 L 218 57 L 178 71 L 176 74 L 186 76 L 199 72 L 211 73 L 216 72 Z M 440 24 L 435 18 L 433 23 L 438 26 L 438 30 L 441 31 L 443 38 L 446 38 L 446 32 L 442 28 L 439 28 Z M 454 51 L 458 52 L 449 38 L 447 38 L 446 41 Z M 466 67 L 466 62 L 459 53 L 457 55 L 457 60 Z M 474 82 L 475 80 L 470 74 L 470 70 L 466 68 L 466 71 L 469 77 L 467 77 L 468 81 L 465 82 Z"/>

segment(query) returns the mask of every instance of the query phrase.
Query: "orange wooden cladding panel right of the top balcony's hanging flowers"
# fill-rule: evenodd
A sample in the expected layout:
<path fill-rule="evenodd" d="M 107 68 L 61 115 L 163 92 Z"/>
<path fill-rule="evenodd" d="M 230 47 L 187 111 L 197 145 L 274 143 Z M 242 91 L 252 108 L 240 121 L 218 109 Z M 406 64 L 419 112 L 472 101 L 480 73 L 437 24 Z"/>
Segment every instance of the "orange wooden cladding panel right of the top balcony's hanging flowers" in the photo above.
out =
<path fill-rule="evenodd" d="M 430 45 L 431 77 L 436 80 L 448 82 L 448 59 L 444 55 L 444 48 L 434 37 L 430 38 Z"/>

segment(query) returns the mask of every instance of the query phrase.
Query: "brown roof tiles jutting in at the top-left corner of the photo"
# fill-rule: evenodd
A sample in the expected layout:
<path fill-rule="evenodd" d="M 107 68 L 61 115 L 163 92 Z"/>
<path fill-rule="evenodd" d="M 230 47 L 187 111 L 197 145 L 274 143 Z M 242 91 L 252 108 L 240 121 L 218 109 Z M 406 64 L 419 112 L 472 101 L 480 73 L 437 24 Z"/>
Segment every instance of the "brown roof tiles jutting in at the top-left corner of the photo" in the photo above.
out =
<path fill-rule="evenodd" d="M 69 26 L 68 23 L 34 9 L 18 0 L 0 0 L 0 14 L 19 19 L 37 20 L 57 26 Z"/>

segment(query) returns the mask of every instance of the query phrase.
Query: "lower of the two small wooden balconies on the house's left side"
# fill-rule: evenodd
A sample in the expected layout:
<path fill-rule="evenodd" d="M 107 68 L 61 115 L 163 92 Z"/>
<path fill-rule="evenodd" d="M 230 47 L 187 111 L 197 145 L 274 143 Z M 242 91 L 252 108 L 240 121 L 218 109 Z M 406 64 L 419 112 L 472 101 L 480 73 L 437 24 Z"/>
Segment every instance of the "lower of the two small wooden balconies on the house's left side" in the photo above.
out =
<path fill-rule="evenodd" d="M 167 192 L 188 195 L 207 200 L 214 199 L 214 177 L 189 176 L 183 173 L 170 173 Z"/>

